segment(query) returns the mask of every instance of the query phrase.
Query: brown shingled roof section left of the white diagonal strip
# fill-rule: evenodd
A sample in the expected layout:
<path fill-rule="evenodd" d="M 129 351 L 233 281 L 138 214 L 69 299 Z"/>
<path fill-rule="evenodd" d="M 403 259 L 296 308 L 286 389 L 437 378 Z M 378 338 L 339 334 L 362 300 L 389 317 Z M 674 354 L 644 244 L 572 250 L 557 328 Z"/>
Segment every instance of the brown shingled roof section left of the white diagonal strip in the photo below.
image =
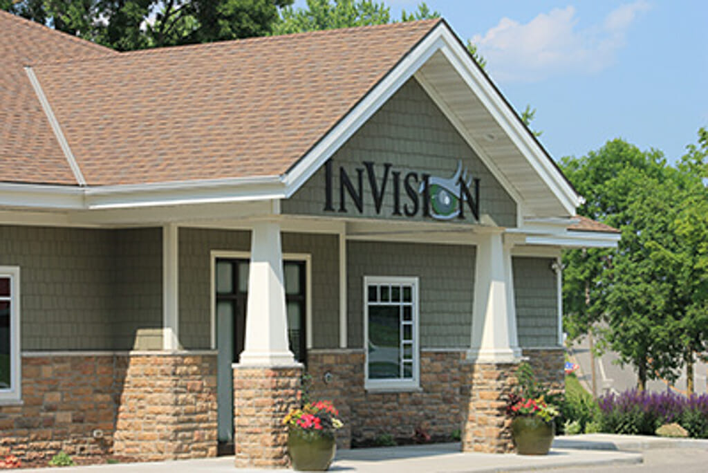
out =
<path fill-rule="evenodd" d="M 0 11 L 0 181 L 76 184 L 23 67 L 118 55 Z"/>

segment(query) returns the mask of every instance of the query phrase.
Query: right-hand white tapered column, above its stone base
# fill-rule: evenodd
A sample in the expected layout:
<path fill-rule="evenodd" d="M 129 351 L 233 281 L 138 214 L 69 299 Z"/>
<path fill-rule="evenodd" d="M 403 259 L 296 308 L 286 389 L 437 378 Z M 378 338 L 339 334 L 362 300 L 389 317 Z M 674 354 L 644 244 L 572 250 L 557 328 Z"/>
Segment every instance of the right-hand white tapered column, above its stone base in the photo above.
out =
<path fill-rule="evenodd" d="M 514 363 L 521 358 L 516 313 L 511 246 L 503 234 L 479 236 L 474 272 L 472 344 L 467 358 L 476 363 Z"/>

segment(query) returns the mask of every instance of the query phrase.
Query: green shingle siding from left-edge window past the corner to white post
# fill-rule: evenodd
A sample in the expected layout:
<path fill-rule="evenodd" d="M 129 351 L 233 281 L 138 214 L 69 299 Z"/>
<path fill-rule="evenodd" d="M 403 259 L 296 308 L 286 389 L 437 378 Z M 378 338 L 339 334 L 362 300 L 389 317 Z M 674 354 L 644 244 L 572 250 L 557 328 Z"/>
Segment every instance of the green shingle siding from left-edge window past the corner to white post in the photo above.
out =
<path fill-rule="evenodd" d="M 161 251 L 159 229 L 0 226 L 0 265 L 20 267 L 22 350 L 161 348 L 141 338 L 162 325 Z"/>

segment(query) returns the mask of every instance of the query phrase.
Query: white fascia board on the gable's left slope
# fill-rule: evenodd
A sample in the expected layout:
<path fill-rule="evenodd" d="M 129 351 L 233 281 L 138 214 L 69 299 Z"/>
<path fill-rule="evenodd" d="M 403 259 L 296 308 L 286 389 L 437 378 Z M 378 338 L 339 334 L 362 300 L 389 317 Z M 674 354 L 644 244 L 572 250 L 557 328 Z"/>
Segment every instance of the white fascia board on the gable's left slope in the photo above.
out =
<path fill-rule="evenodd" d="M 333 127 L 315 147 L 302 157 L 285 177 L 289 198 L 334 154 L 391 96 L 426 63 L 430 56 L 445 45 L 442 35 L 447 31 L 439 23 L 387 76 L 367 93 L 350 112 Z"/>

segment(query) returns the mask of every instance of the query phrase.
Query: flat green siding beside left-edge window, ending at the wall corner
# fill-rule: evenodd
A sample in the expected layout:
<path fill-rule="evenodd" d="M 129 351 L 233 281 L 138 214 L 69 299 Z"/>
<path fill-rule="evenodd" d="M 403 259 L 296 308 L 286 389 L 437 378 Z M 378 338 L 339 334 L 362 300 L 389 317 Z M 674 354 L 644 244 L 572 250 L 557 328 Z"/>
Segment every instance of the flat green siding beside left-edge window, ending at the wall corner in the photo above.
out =
<path fill-rule="evenodd" d="M 110 230 L 0 227 L 0 265 L 20 267 L 21 348 L 113 346 Z"/>

